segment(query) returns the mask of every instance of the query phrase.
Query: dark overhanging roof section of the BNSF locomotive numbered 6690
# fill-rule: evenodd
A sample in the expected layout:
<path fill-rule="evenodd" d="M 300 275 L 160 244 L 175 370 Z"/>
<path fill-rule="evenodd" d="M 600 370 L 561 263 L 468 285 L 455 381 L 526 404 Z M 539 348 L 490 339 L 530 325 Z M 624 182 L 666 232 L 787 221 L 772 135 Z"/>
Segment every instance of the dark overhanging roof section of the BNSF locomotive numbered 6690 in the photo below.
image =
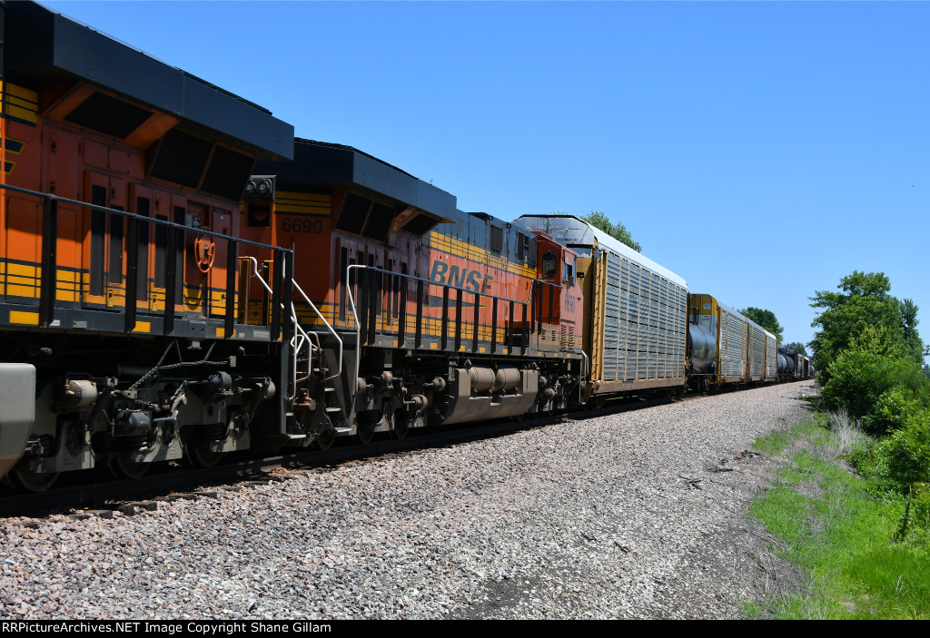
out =
<path fill-rule="evenodd" d="M 355 185 L 385 195 L 448 221 L 456 215 L 456 197 L 362 150 L 344 144 L 294 139 L 294 160 L 261 163 L 257 173 L 297 186 Z"/>

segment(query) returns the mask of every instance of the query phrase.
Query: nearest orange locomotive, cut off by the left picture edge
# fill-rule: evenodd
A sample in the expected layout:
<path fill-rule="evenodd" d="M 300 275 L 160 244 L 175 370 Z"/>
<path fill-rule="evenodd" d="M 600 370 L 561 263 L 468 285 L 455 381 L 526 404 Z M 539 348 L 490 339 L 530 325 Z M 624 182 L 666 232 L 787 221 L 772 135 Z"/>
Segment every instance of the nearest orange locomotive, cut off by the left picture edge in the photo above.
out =
<path fill-rule="evenodd" d="M 45 7 L 0 19 L 0 476 L 286 439 L 292 252 L 238 236 L 254 163 L 289 159 L 293 128 Z"/>

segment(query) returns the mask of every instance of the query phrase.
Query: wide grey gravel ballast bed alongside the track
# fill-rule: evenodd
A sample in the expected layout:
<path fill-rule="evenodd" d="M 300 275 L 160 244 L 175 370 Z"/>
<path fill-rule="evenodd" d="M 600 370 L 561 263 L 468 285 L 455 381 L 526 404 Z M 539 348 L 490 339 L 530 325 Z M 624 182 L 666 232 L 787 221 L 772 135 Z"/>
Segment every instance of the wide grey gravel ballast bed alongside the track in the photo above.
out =
<path fill-rule="evenodd" d="M 731 618 L 756 436 L 813 382 L 566 419 L 112 519 L 0 521 L 3 618 Z"/>

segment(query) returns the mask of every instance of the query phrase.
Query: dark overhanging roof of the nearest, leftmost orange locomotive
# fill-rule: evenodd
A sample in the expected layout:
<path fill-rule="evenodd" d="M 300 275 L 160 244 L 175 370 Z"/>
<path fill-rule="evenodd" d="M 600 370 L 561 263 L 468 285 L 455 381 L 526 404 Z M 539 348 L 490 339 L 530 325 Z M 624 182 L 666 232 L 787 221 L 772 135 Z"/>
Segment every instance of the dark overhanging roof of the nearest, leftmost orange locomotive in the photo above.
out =
<path fill-rule="evenodd" d="M 4 20 L 13 82 L 88 81 L 245 142 L 261 159 L 291 157 L 294 127 L 253 102 L 33 2 L 5 3 Z"/>

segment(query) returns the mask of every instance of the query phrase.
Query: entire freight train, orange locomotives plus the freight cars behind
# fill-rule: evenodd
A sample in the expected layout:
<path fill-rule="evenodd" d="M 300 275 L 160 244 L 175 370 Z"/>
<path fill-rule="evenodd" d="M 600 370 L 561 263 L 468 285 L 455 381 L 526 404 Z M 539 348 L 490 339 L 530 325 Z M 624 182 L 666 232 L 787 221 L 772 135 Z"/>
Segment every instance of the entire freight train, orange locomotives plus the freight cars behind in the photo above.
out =
<path fill-rule="evenodd" d="M 20 488 L 813 374 L 575 217 L 460 211 L 44 7 L 0 20 L 0 476 Z"/>

